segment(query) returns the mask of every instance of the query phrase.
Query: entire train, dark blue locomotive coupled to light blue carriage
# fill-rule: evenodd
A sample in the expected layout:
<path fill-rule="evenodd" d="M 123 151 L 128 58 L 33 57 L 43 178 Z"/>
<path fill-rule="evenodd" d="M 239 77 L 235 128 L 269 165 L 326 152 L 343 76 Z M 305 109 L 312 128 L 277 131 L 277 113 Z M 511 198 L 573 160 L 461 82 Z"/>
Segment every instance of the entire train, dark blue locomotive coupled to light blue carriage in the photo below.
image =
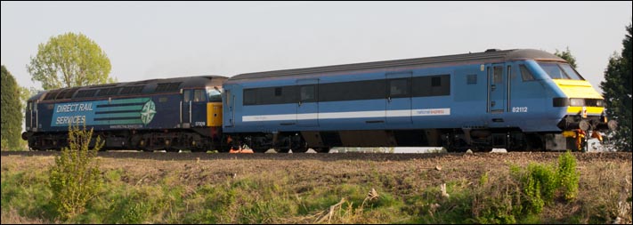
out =
<path fill-rule="evenodd" d="M 617 128 L 583 76 L 534 49 L 62 88 L 28 100 L 22 138 L 61 149 L 69 123 L 103 149 L 295 153 L 581 150 Z"/>

